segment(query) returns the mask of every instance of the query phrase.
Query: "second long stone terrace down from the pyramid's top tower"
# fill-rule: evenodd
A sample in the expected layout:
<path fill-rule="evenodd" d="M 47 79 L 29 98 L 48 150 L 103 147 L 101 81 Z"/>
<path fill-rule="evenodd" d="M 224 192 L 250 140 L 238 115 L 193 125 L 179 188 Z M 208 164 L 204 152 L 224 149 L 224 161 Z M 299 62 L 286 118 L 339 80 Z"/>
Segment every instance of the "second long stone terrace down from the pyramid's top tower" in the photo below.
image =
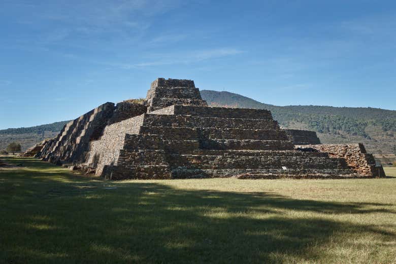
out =
<path fill-rule="evenodd" d="M 143 126 L 156 127 L 192 127 L 192 128 L 239 128 L 239 129 L 262 129 L 280 130 L 278 122 L 257 119 L 242 118 L 213 118 L 181 115 L 158 115 L 146 114 L 143 118 Z"/>

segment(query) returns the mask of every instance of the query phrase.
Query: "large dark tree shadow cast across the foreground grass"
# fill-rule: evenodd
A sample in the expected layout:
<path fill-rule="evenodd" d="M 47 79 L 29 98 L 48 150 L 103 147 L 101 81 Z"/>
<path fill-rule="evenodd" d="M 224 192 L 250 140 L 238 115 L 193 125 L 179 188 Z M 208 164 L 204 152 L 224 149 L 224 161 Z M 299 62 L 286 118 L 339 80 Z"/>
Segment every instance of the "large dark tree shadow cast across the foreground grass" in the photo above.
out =
<path fill-rule="evenodd" d="M 30 164 L 48 171 L 45 176 L 41 172 L 11 175 L 0 171 L 1 184 L 11 187 L 4 185 L 0 196 L 4 219 L 0 225 L 4 249 L 0 262 L 315 261 L 331 257 L 318 248 L 341 234 L 366 234 L 384 241 L 394 238 L 394 234 L 369 225 L 321 217 L 394 213 L 367 209 L 384 204 L 294 200 L 274 193 L 179 190 L 147 182 L 112 184 L 71 176 L 67 171 L 51 174 L 53 167 L 46 163 Z M 305 212 L 317 213 L 317 217 L 304 216 Z"/>

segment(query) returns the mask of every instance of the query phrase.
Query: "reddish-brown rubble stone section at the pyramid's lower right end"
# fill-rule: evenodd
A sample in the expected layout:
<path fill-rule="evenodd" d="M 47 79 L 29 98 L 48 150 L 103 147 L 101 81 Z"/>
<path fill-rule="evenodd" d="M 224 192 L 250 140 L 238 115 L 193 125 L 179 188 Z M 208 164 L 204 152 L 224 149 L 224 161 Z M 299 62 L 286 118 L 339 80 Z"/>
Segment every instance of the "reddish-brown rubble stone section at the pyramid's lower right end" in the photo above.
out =
<path fill-rule="evenodd" d="M 348 166 L 361 176 L 385 177 L 382 166 L 375 166 L 373 155 L 366 152 L 366 148 L 362 143 L 296 145 L 296 147 L 300 149 L 316 149 L 319 152 L 328 153 L 329 157 L 344 159 Z"/>

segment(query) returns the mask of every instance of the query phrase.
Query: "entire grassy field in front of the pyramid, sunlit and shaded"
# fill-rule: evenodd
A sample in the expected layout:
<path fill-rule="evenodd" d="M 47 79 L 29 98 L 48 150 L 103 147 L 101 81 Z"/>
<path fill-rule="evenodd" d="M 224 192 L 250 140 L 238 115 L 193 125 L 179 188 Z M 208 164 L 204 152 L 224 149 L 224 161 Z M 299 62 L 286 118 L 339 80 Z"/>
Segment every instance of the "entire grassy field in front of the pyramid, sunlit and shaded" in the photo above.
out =
<path fill-rule="evenodd" d="M 396 262 L 394 177 L 112 182 L 2 160 L 23 167 L 0 169 L 0 263 Z"/>

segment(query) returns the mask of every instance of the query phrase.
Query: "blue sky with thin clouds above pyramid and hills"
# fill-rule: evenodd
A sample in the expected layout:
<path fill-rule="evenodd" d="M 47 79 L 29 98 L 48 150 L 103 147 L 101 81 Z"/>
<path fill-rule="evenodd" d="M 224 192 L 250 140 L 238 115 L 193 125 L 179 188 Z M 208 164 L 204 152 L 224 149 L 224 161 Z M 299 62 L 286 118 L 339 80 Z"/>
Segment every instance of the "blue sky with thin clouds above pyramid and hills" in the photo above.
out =
<path fill-rule="evenodd" d="M 192 79 L 276 105 L 396 109 L 394 1 L 0 1 L 0 129 Z"/>

